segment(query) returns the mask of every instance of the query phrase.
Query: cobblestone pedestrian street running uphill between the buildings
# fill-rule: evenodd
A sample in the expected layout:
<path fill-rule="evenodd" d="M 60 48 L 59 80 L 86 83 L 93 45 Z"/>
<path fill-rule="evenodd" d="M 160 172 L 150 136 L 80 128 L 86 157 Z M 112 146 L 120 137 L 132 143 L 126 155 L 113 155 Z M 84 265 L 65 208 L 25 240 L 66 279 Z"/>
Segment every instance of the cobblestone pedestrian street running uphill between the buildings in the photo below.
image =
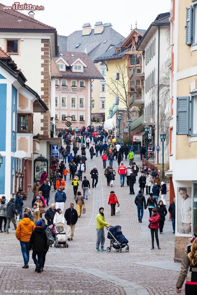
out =
<path fill-rule="evenodd" d="M 180 270 L 180 264 L 174 263 L 174 237 L 172 222 L 169 214 L 166 216 L 164 232 L 159 235 L 161 250 L 151 248 L 151 235 L 148 228 L 149 211 L 144 211 L 142 223 L 138 222 L 137 208 L 134 203 L 139 191 L 138 173 L 134 185 L 135 195 L 129 194 L 129 187 L 120 186 L 118 162 L 113 162 L 116 171 L 113 188 L 107 186 L 100 155 L 90 161 L 89 151 L 86 152 L 86 175 L 90 181 L 90 170 L 97 166 L 99 172 L 98 184 L 91 188 L 91 196 L 85 200 L 86 213 L 78 219 L 74 232 L 74 240 L 69 241 L 69 248 L 49 248 L 46 255 L 44 272 L 35 273 L 35 266 L 31 258 L 29 269 L 22 269 L 23 258 L 19 241 L 15 237 L 13 225 L 10 234 L 0 234 L 1 264 L 0 264 L 0 294 L 3 290 L 48 290 L 55 294 L 55 289 L 82 290 L 83 294 L 175 294 L 175 284 Z M 135 156 L 137 164 L 141 164 L 139 155 Z M 107 166 L 108 166 L 107 161 Z M 128 160 L 123 160 L 128 166 Z M 68 163 L 66 165 L 68 168 Z M 81 182 L 80 182 L 81 188 Z M 111 217 L 108 198 L 111 190 L 120 203 L 120 214 Z M 82 191 L 81 189 L 79 189 Z M 152 191 L 152 190 L 151 190 Z M 65 209 L 70 202 L 74 202 L 73 187 L 67 176 Z M 144 192 L 145 193 L 145 192 Z M 54 202 L 55 192 L 51 189 L 50 205 Z M 147 196 L 145 195 L 147 200 Z M 24 208 L 31 207 L 32 192 L 24 201 Z M 167 201 L 167 210 L 169 201 Z M 99 207 L 104 207 L 105 220 L 112 225 L 121 225 L 123 235 L 129 240 L 129 252 L 122 250 L 118 253 L 112 248 L 111 252 L 95 252 L 96 215 Z M 74 206 L 76 209 L 76 204 Z M 18 222 L 17 222 L 18 223 Z M 109 245 L 107 230 L 105 229 L 105 248 Z M 155 242 L 156 244 L 156 242 Z M 37 277 L 39 283 L 37 282 Z M 42 283 L 40 283 L 42 281 Z M 102 288 L 102 289 L 101 289 Z M 45 293 L 44 293 L 45 294 Z M 46 293 L 47 294 L 47 293 Z M 61 293 L 60 293 L 61 294 Z"/>

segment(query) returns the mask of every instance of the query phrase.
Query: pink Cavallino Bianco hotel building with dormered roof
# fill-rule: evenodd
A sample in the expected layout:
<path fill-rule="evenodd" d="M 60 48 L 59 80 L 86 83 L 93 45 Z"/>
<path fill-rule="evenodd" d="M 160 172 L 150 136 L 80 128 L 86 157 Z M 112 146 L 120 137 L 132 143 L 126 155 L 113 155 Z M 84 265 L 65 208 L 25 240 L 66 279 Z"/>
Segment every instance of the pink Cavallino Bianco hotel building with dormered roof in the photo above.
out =
<path fill-rule="evenodd" d="M 56 119 L 56 129 L 90 124 L 91 83 L 104 79 L 86 53 L 59 52 L 51 62 L 51 116 Z M 70 117 L 68 117 L 70 116 Z"/>

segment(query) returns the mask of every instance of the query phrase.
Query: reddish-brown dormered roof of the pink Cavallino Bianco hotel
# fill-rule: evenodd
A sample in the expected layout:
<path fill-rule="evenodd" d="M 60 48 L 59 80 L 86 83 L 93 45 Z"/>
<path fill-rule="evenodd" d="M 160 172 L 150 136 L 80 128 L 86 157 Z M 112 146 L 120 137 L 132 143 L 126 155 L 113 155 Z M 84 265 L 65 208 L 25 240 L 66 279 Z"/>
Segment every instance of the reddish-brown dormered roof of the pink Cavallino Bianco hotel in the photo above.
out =
<path fill-rule="evenodd" d="M 67 78 L 88 78 L 88 79 L 104 79 L 99 70 L 96 68 L 92 60 L 86 53 L 83 52 L 69 52 L 69 51 L 60 51 L 59 54 L 63 54 L 63 59 L 69 65 L 76 62 L 76 60 L 81 60 L 86 67 L 84 67 L 84 72 L 72 72 L 70 67 L 66 67 L 66 71 L 61 71 L 62 77 Z M 74 56 L 72 57 L 71 54 Z M 53 60 L 56 62 L 59 57 L 54 57 Z M 55 72 L 51 71 L 51 75 L 55 77 Z"/>

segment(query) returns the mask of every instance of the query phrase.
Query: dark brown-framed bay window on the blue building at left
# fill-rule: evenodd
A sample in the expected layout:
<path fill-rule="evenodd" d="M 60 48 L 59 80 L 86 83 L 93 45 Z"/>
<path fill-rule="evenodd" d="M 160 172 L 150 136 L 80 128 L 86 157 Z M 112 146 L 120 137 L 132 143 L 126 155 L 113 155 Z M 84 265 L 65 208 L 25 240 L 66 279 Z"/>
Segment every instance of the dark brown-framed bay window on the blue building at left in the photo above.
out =
<path fill-rule="evenodd" d="M 17 132 L 33 133 L 33 115 L 32 114 L 17 115 Z"/>

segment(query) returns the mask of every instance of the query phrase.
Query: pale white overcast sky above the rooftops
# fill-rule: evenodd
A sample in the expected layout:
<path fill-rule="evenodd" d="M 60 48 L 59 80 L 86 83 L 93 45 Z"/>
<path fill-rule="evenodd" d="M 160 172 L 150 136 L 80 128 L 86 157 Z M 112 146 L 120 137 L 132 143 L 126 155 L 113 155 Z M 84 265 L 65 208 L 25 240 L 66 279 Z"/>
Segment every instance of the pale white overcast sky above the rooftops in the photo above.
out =
<path fill-rule="evenodd" d="M 12 5 L 16 0 L 2 3 Z M 20 0 L 20 4 L 44 6 L 43 11 L 35 11 L 35 19 L 57 29 L 59 35 L 68 36 L 76 30 L 82 30 L 85 22 L 94 27 L 97 21 L 111 22 L 113 29 L 127 37 L 137 19 L 138 29 L 146 30 L 159 13 L 168 12 L 170 0 L 84 0 L 84 1 L 48 1 Z M 53 5 L 52 5 L 53 4 Z M 21 11 L 28 14 L 29 11 Z"/>

